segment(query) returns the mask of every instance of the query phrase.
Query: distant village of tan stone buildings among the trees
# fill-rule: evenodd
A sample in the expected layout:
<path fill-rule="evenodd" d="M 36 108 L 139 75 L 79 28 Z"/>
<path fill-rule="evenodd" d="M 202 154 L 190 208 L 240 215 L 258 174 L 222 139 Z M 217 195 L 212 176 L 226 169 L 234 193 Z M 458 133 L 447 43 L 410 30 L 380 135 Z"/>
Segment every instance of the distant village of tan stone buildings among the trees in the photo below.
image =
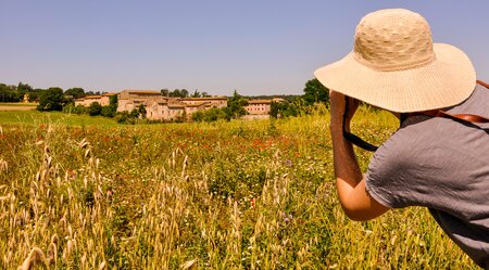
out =
<path fill-rule="evenodd" d="M 112 95 L 117 95 L 117 112 L 130 112 L 143 105 L 146 118 L 151 120 L 173 120 L 183 117 L 190 119 L 191 115 L 198 111 L 227 106 L 226 97 L 170 98 L 162 95 L 160 91 L 153 90 L 124 90 L 120 93 L 87 95 L 75 100 L 75 106 L 83 105 L 88 107 L 95 102 L 102 106 L 108 106 Z M 244 118 L 267 118 L 272 102 L 283 101 L 283 99 L 249 100 L 248 105 L 244 106 L 248 113 Z"/>

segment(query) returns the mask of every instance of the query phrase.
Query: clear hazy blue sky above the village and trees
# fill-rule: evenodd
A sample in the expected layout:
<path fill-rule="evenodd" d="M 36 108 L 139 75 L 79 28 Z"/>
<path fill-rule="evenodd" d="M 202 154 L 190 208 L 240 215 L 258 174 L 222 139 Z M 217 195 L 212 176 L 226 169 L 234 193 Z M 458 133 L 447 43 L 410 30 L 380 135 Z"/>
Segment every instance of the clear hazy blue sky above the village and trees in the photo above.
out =
<path fill-rule="evenodd" d="M 1 0 L 0 82 L 300 94 L 387 8 L 421 13 L 489 81 L 487 0 Z"/>

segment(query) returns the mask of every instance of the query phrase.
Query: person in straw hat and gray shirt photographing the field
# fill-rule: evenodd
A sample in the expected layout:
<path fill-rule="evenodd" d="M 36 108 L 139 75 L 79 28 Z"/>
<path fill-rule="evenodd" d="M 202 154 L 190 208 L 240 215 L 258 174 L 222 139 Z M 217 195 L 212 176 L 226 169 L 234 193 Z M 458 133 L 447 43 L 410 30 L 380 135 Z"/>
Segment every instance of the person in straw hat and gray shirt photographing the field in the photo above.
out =
<path fill-rule="evenodd" d="M 468 56 L 434 43 L 422 15 L 380 10 L 358 24 L 352 52 L 314 75 L 330 89 L 334 168 L 346 215 L 368 220 L 390 208 L 427 207 L 462 250 L 489 269 L 489 124 L 480 120 L 489 116 L 489 89 L 476 83 Z M 402 120 L 365 176 L 346 137 L 359 101 Z"/>

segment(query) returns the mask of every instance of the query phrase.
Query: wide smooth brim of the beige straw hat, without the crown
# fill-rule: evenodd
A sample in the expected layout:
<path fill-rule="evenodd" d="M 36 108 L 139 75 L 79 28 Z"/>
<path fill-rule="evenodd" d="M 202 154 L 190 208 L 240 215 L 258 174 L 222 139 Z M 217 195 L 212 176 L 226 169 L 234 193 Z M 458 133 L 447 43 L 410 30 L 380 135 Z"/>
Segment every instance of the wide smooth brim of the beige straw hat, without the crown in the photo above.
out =
<path fill-rule="evenodd" d="M 435 43 L 436 60 L 425 66 L 381 72 L 360 64 L 353 52 L 318 68 L 314 76 L 330 90 L 398 113 L 452 106 L 474 91 L 476 73 L 460 49 Z"/>

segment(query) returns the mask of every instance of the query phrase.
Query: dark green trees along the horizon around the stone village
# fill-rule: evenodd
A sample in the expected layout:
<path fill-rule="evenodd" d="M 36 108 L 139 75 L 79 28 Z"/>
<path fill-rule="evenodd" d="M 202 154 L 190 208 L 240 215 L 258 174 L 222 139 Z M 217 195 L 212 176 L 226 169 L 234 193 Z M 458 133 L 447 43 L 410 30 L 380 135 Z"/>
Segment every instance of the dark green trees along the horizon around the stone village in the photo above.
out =
<path fill-rule="evenodd" d="M 195 90 L 189 93 L 187 89 L 161 89 L 163 97 L 170 98 L 206 98 L 210 97 L 205 91 Z M 324 104 L 326 108 L 329 105 L 329 90 L 317 79 L 311 79 L 305 82 L 302 95 L 256 95 L 251 98 L 285 98 L 284 102 L 272 102 L 269 115 L 272 117 L 290 117 L 301 114 L 308 114 L 315 110 L 317 104 Z M 26 97 L 29 102 L 38 102 L 38 111 L 64 111 L 66 113 L 102 115 L 106 117 L 116 116 L 117 97 L 111 97 L 109 106 L 101 106 L 99 103 L 92 103 L 89 107 L 83 105 L 75 106 L 76 99 L 87 95 L 100 95 L 102 91 L 85 91 L 83 88 L 70 88 L 65 91 L 59 87 L 48 89 L 34 89 L 27 83 L 18 82 L 17 86 L 8 86 L 0 83 L 0 102 L 21 102 Z M 196 121 L 214 121 L 217 119 L 239 118 L 246 115 L 244 106 L 248 105 L 248 97 L 242 97 L 238 91 L 228 98 L 227 107 L 212 108 L 209 111 L 199 111 L 192 114 Z M 134 112 L 128 112 L 120 116 L 125 119 L 141 118 L 146 115 L 146 108 L 141 105 Z"/>

